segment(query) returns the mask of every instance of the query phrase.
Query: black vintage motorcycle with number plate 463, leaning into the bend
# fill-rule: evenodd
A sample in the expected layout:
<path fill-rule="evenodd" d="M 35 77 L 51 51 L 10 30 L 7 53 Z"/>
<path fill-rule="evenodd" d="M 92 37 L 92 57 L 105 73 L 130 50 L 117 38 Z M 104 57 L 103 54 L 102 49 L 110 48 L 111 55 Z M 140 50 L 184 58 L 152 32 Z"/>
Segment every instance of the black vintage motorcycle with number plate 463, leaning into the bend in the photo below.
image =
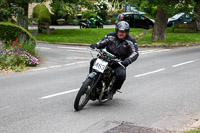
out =
<path fill-rule="evenodd" d="M 120 59 L 105 49 L 95 49 L 95 51 L 99 54 L 92 67 L 92 72 L 83 82 L 75 98 L 74 109 L 76 111 L 83 109 L 89 100 L 99 100 L 100 103 L 111 100 L 112 98 L 106 99 L 115 81 L 115 72 L 111 66 L 117 63 L 124 67 Z"/>

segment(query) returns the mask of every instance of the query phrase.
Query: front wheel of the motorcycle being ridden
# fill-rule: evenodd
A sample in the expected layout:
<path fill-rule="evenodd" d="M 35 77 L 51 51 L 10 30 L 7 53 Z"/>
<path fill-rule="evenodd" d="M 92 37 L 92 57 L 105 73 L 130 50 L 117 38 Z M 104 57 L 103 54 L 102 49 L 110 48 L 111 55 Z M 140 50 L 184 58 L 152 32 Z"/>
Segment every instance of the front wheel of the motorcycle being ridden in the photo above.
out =
<path fill-rule="evenodd" d="M 90 99 L 90 87 L 92 86 L 92 79 L 87 78 L 85 82 L 83 82 L 83 85 L 81 86 L 80 90 L 78 91 L 78 94 L 76 96 L 75 102 L 74 102 L 74 109 L 76 111 L 79 111 L 83 109 L 83 107 L 88 103 Z"/>

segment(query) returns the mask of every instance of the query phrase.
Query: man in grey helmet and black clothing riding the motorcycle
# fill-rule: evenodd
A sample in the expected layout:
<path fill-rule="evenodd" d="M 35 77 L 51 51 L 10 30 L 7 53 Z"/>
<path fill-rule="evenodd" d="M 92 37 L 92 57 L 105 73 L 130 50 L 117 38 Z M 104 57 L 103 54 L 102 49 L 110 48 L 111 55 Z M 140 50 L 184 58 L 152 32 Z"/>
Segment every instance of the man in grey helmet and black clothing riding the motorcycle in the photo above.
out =
<path fill-rule="evenodd" d="M 115 32 L 107 34 L 101 41 L 96 44 L 91 44 L 91 48 L 98 48 L 106 50 L 117 58 L 121 59 L 122 67 L 119 64 L 114 64 L 113 69 L 116 74 L 116 79 L 113 84 L 112 92 L 107 98 L 112 98 L 113 94 L 119 90 L 125 79 L 126 79 L 126 67 L 134 62 L 138 56 L 138 46 L 135 38 L 129 35 L 130 27 L 125 21 L 120 21 L 115 28 Z M 90 72 L 92 71 L 92 66 L 94 65 L 96 58 L 92 59 L 90 62 Z"/>

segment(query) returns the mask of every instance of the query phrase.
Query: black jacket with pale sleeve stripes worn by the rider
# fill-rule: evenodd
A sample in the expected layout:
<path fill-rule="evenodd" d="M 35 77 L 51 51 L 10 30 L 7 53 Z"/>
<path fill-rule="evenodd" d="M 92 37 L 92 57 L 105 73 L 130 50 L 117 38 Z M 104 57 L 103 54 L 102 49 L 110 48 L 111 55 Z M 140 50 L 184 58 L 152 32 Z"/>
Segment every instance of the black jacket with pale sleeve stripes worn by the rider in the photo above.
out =
<path fill-rule="evenodd" d="M 138 56 L 138 46 L 135 38 L 127 35 L 124 39 L 119 40 L 115 32 L 106 35 L 101 41 L 96 43 L 98 49 L 106 50 L 117 58 L 126 62 L 127 66 L 134 62 Z"/>

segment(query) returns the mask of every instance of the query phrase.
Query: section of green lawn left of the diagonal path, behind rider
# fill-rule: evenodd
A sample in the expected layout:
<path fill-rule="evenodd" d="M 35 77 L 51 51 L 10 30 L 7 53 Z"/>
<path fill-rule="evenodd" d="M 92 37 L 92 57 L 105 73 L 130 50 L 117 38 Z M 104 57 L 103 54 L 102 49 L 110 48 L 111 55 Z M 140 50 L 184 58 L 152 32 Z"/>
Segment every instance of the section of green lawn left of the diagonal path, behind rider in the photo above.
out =
<path fill-rule="evenodd" d="M 37 40 L 54 43 L 92 44 L 98 42 L 105 35 L 113 31 L 115 29 L 56 29 L 50 35 L 47 35 L 45 32 L 40 33 Z M 145 31 L 145 29 L 131 29 L 130 34 L 136 37 Z"/>

